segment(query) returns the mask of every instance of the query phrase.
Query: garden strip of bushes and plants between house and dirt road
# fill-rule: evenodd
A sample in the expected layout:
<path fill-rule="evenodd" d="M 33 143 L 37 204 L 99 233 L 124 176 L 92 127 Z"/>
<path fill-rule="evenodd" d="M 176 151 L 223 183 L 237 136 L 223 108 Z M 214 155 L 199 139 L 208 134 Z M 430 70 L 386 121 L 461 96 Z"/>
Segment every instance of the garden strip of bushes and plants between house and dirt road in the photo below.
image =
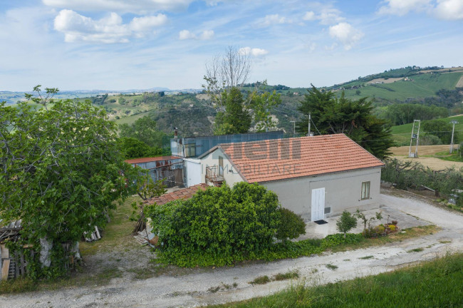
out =
<path fill-rule="evenodd" d="M 237 183 L 198 191 L 188 200 L 145 207 L 157 235 L 156 262 L 179 267 L 217 267 L 239 262 L 269 262 L 320 254 L 340 247 L 381 245 L 399 230 L 397 221 L 382 224 L 381 212 L 343 212 L 338 234 L 295 240 L 305 233 L 298 215 L 281 208 L 277 196 L 257 184 Z M 378 225 L 375 225 L 375 220 Z M 348 233 L 363 225 L 360 234 Z M 428 226 L 429 232 L 435 226 Z M 399 233 L 397 238 L 413 236 Z M 391 239 L 393 240 L 393 239 Z"/>

